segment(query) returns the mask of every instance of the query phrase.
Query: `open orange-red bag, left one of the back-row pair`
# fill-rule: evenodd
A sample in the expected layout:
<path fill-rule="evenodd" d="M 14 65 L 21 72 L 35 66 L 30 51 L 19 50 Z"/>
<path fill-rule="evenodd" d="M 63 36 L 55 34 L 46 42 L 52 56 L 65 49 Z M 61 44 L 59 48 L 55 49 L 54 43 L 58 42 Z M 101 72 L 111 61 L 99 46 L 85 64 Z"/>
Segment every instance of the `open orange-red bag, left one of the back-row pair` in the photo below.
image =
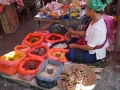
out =
<path fill-rule="evenodd" d="M 42 33 L 29 33 L 23 40 L 23 44 L 30 47 L 39 46 L 44 41 L 44 35 Z"/>

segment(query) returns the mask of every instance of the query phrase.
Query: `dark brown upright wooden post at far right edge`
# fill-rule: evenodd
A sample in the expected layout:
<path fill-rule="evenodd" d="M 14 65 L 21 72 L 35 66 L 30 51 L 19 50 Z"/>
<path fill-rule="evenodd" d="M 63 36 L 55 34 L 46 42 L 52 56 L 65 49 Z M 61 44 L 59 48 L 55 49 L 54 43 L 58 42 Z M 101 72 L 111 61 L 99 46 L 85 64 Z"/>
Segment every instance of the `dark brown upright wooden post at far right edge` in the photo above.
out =
<path fill-rule="evenodd" d="M 120 0 L 118 0 L 117 5 L 117 33 L 116 33 L 116 43 L 115 43 L 115 51 L 120 51 Z"/>

